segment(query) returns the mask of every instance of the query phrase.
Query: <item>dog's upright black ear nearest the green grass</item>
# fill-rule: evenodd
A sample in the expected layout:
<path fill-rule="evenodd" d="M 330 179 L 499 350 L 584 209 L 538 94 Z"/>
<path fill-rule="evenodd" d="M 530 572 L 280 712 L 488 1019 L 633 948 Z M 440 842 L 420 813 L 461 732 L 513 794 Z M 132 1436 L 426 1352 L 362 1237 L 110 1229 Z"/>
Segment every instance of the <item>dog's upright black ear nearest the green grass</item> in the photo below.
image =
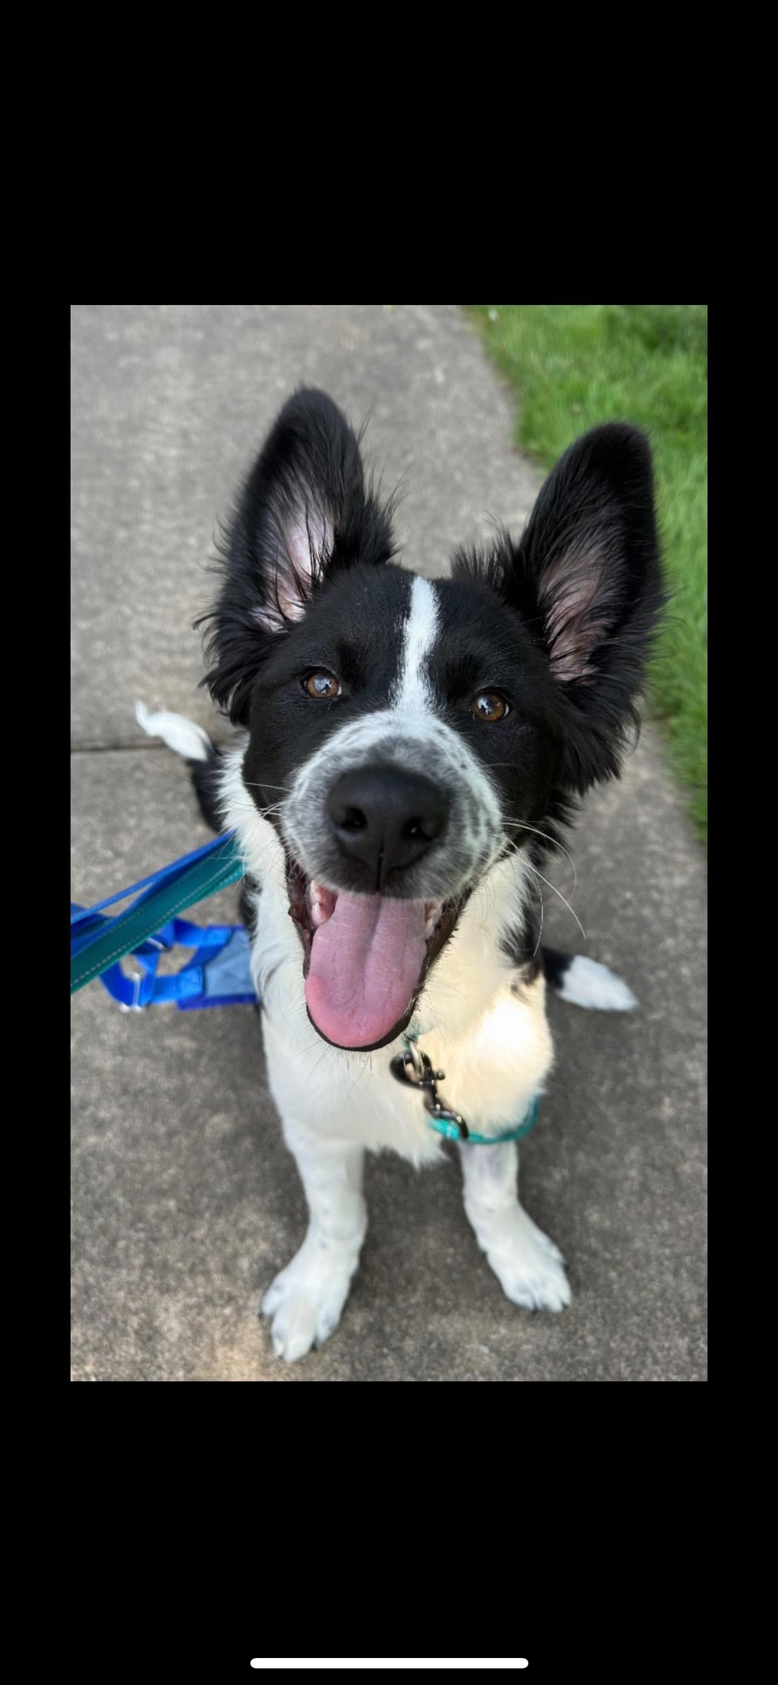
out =
<path fill-rule="evenodd" d="M 504 590 L 544 645 L 566 718 L 564 778 L 620 770 L 625 728 L 663 605 L 648 440 L 610 423 L 546 480 Z"/>

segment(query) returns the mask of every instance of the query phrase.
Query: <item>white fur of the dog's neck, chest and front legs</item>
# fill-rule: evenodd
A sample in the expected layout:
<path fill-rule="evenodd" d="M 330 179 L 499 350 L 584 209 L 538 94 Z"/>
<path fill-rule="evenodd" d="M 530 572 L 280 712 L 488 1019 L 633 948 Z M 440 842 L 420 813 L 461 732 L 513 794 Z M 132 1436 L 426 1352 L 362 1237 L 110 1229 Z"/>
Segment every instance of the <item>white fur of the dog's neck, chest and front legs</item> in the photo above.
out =
<path fill-rule="evenodd" d="M 313 1030 L 283 848 L 249 799 L 242 755 L 241 746 L 226 760 L 224 814 L 263 886 L 253 971 L 263 1001 L 268 1078 L 310 1210 L 303 1245 L 263 1301 L 273 1318 L 273 1350 L 291 1363 L 333 1331 L 345 1304 L 367 1222 L 364 1149 L 392 1149 L 423 1166 L 440 1161 L 443 1147 L 419 1095 L 391 1075 L 399 1041 L 376 1053 L 344 1051 Z M 445 1097 L 487 1134 L 525 1114 L 552 1065 L 544 977 L 520 982 L 498 945 L 525 895 L 529 873 L 519 854 L 487 869 L 429 974 L 414 1019 L 424 1051 L 446 1072 Z M 515 1144 L 463 1146 L 461 1158 L 465 1208 L 504 1292 L 515 1304 L 561 1311 L 569 1303 L 561 1254 L 519 1205 Z"/>

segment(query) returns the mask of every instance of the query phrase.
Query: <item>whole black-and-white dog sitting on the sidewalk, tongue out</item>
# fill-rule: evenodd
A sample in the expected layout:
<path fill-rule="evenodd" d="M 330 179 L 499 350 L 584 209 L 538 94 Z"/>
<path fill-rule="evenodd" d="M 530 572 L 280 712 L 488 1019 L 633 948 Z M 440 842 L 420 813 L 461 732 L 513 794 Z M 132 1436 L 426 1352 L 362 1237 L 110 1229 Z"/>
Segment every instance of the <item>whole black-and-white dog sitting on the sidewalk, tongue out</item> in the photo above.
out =
<path fill-rule="evenodd" d="M 391 1072 L 404 1033 L 470 1131 L 500 1136 L 551 1070 L 546 979 L 581 1006 L 635 1004 L 603 966 L 541 949 L 539 868 L 576 797 L 618 775 L 635 721 L 662 608 L 645 438 L 588 433 L 520 543 L 458 551 L 434 583 L 392 563 L 391 521 L 340 409 L 296 393 L 226 531 L 207 617 L 204 682 L 241 741 L 216 750 L 155 719 L 246 856 L 269 1085 L 310 1208 L 263 1303 L 290 1363 L 340 1319 L 365 1147 L 441 1156 L 423 1094 Z M 504 1292 L 561 1311 L 562 1257 L 519 1203 L 515 1141 L 458 1151 Z"/>

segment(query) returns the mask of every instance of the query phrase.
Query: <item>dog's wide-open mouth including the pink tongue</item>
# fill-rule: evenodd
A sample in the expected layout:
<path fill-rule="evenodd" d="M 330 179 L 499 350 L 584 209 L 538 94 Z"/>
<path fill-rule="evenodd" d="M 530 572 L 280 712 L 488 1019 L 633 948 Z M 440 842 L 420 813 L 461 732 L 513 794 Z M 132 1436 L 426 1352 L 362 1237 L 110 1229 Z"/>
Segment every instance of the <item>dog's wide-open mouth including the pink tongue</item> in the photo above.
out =
<path fill-rule="evenodd" d="M 288 856 L 286 878 L 313 1028 L 333 1046 L 364 1053 L 394 1041 L 466 896 L 401 901 L 335 891 L 306 878 Z"/>

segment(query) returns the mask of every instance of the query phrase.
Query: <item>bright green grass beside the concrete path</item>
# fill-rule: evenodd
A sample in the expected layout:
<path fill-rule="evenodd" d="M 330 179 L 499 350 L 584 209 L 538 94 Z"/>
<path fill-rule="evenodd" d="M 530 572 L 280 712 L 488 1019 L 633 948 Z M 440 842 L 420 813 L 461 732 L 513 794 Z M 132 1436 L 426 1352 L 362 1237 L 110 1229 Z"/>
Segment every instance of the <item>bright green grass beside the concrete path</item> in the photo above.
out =
<path fill-rule="evenodd" d="M 517 445 L 551 468 L 599 421 L 635 421 L 653 450 L 672 596 L 650 667 L 648 711 L 707 821 L 706 305 L 473 305 L 519 394 Z"/>

